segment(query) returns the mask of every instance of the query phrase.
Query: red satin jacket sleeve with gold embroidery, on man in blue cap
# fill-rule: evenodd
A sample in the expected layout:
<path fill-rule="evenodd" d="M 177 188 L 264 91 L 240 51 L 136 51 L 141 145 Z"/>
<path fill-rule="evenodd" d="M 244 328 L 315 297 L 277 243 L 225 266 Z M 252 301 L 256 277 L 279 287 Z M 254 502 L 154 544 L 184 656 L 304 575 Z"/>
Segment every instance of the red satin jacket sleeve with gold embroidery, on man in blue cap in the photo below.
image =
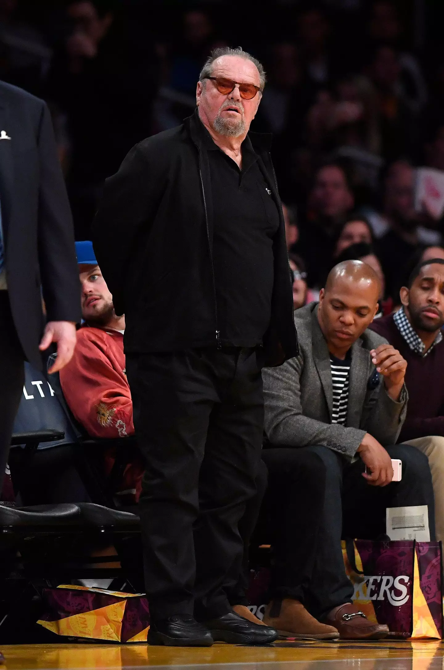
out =
<path fill-rule="evenodd" d="M 88 435 L 132 435 L 130 387 L 112 366 L 106 347 L 82 330 L 74 356 L 60 371 L 60 385 L 72 413 Z"/>

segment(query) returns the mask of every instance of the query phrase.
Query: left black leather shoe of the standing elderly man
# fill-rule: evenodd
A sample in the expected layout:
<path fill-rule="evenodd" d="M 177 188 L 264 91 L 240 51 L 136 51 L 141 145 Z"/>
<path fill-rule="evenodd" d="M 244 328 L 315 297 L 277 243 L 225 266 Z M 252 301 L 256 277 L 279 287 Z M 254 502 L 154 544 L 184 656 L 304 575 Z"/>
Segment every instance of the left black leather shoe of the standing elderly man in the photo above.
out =
<path fill-rule="evenodd" d="M 211 647 L 214 640 L 208 628 L 190 614 L 173 614 L 150 622 L 147 642 L 165 647 Z"/>

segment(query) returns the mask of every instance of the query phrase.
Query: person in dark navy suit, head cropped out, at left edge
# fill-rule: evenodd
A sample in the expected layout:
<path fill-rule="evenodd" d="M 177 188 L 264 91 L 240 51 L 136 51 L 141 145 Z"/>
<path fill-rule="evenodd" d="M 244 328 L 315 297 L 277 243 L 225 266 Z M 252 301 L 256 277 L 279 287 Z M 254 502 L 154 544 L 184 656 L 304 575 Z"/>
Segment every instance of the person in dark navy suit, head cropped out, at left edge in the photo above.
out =
<path fill-rule="evenodd" d="M 70 205 L 49 110 L 43 100 L 0 82 L 0 490 L 23 363 L 42 370 L 42 352 L 56 342 L 51 372 L 66 365 L 81 318 L 79 295 Z"/>

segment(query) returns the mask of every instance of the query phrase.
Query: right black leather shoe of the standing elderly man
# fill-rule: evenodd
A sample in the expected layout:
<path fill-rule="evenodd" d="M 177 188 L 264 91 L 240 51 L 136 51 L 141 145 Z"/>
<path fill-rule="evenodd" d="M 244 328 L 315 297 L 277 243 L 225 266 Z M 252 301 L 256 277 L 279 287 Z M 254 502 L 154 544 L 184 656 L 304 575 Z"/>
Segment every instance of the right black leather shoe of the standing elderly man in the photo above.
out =
<path fill-rule="evenodd" d="M 215 642 L 227 642 L 229 645 L 269 645 L 279 637 L 274 628 L 254 624 L 236 612 L 205 621 L 204 626 L 209 628 Z"/>

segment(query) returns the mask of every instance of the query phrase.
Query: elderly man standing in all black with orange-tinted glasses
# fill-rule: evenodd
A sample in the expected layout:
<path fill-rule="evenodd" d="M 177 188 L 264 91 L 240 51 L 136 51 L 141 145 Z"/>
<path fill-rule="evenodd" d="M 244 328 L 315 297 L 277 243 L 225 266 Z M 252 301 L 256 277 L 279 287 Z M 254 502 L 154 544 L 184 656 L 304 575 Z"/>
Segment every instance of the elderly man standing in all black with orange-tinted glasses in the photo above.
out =
<path fill-rule="evenodd" d="M 235 614 L 222 586 L 240 566 L 237 525 L 255 494 L 261 367 L 298 351 L 269 139 L 248 133 L 264 83 L 255 58 L 215 50 L 193 116 L 130 151 L 94 224 L 98 262 L 125 313 L 146 458 L 140 513 L 154 645 L 277 636 Z"/>

